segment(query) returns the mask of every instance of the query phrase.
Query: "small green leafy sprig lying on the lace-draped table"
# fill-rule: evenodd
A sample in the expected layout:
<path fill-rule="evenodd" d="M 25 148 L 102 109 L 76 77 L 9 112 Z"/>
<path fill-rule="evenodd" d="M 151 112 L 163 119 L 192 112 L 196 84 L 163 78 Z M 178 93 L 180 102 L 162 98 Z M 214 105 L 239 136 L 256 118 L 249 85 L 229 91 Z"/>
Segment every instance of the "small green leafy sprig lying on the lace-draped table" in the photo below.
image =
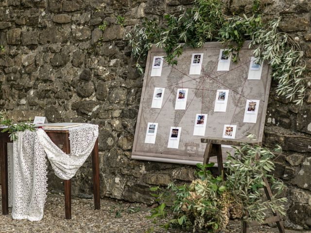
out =
<path fill-rule="evenodd" d="M 17 123 L 14 124 L 12 119 L 10 119 L 5 111 L 0 111 L 0 125 L 6 126 L 1 132 L 8 132 L 10 135 L 10 139 L 15 141 L 18 139 L 17 132 L 19 131 L 35 131 L 35 125 L 30 123 L 30 119 L 28 122 Z"/>

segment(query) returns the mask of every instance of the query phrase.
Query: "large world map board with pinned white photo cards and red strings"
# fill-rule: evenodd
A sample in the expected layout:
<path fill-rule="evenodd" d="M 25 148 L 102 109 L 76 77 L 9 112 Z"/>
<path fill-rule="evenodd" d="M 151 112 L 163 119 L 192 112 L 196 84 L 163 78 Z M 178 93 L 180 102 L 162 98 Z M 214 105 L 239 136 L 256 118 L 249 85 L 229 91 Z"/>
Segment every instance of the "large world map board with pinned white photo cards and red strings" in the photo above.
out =
<path fill-rule="evenodd" d="M 175 66 L 164 56 L 155 46 L 148 53 L 132 159 L 194 165 L 202 137 L 262 141 L 270 67 L 255 63 L 247 42 L 238 63 L 219 42 L 186 48 Z"/>

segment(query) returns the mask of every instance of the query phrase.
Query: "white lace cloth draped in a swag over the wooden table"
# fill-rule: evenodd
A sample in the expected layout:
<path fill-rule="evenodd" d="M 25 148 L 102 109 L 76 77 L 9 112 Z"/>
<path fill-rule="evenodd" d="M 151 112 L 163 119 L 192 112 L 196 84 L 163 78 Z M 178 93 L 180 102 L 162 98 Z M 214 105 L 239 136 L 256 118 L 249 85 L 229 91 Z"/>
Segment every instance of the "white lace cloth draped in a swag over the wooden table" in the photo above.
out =
<path fill-rule="evenodd" d="M 60 150 L 41 129 L 18 132 L 17 136 L 13 154 L 8 149 L 9 205 L 14 219 L 38 221 L 43 217 L 47 192 L 46 155 L 56 176 L 71 179 L 92 152 L 98 125 L 69 129 L 70 154 Z"/>

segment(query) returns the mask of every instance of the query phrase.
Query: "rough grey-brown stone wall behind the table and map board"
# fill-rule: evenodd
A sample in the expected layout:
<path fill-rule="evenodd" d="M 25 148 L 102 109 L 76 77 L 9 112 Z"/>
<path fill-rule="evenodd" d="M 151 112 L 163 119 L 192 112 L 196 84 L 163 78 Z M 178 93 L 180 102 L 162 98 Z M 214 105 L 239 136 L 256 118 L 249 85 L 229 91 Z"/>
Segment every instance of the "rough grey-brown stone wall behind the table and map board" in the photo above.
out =
<path fill-rule="evenodd" d="M 189 182 L 193 166 L 131 160 L 142 78 L 124 35 L 143 17 L 162 20 L 190 0 L 0 0 L 0 108 L 15 120 L 100 126 L 101 196 L 151 203 L 149 187 Z M 224 0 L 228 14 L 250 13 L 253 0 Z M 282 16 L 280 29 L 299 40 L 311 68 L 311 2 L 262 0 L 265 19 Z M 117 16 L 125 18 L 124 27 Z M 108 26 L 102 32 L 103 20 Z M 311 83 L 309 82 L 308 85 Z M 311 89 L 303 106 L 269 99 L 265 145 L 276 143 L 276 176 L 288 185 L 287 226 L 311 226 Z M 91 197 L 90 160 L 73 178 L 72 193 Z M 49 189 L 61 192 L 52 170 Z"/>

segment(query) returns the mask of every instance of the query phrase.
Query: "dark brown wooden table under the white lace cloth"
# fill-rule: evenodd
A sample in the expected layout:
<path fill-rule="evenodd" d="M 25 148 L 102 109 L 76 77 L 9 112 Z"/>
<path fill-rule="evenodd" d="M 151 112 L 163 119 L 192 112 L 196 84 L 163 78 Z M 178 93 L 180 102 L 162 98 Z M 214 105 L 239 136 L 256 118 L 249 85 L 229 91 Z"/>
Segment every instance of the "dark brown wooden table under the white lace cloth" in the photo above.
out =
<path fill-rule="evenodd" d="M 56 145 L 63 145 L 63 151 L 70 153 L 69 130 L 44 130 L 52 142 Z M 8 154 L 7 143 L 12 142 L 9 133 L 0 133 L 0 167 L 1 167 L 1 193 L 2 193 L 2 215 L 9 214 L 8 206 Z M 96 139 L 94 149 L 92 150 L 93 167 L 93 193 L 95 210 L 100 209 L 99 192 L 99 157 L 98 157 L 98 139 Z M 71 219 L 71 180 L 64 180 L 65 194 L 65 216 Z"/>

